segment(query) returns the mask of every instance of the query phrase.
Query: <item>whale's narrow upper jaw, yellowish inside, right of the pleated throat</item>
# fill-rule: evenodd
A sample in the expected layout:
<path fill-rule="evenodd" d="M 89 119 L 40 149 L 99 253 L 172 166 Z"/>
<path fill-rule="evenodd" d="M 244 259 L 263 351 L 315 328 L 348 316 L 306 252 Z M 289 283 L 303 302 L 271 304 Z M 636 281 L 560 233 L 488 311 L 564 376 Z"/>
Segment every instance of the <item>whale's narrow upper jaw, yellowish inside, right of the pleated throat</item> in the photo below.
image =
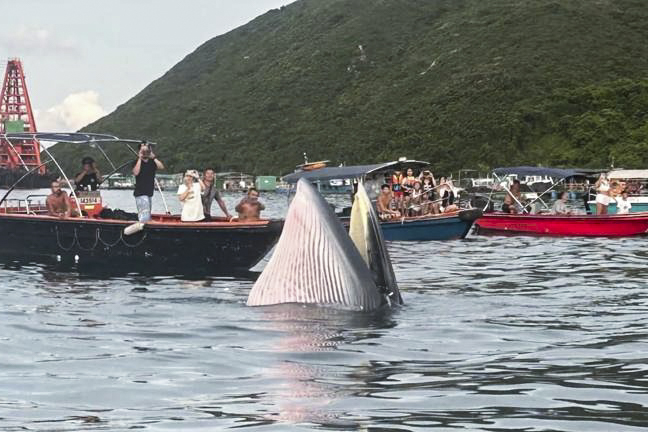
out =
<path fill-rule="evenodd" d="M 358 185 L 353 200 L 349 236 L 371 270 L 378 288 L 386 294 L 391 304 L 402 304 L 403 299 L 396 283 L 380 221 L 362 184 Z"/>

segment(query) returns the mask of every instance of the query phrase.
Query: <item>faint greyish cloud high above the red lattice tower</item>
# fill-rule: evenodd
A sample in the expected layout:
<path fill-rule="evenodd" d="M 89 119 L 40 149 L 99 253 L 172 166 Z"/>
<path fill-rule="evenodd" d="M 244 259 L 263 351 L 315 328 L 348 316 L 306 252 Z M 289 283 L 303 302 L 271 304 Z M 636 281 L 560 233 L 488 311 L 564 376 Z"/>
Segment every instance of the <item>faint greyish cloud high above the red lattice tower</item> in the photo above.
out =
<path fill-rule="evenodd" d="M 21 26 L 4 33 L 0 44 L 10 55 L 25 54 L 78 54 L 79 47 L 72 39 L 64 39 L 41 27 Z"/>

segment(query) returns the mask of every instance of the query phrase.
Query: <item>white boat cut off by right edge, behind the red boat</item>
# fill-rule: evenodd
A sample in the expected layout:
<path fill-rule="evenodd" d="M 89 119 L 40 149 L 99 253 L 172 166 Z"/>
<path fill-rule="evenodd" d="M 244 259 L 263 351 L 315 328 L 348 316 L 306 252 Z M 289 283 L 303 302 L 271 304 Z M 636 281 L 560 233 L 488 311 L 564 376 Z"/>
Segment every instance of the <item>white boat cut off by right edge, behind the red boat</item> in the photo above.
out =
<path fill-rule="evenodd" d="M 621 188 L 628 189 L 628 201 L 632 205 L 631 212 L 648 211 L 648 170 L 617 169 L 608 172 L 607 177 L 612 185 L 618 183 Z M 587 206 L 589 212 L 596 211 L 596 191 L 593 189 L 589 190 Z M 608 205 L 608 213 L 616 214 L 616 212 L 617 206 L 613 197 Z"/>

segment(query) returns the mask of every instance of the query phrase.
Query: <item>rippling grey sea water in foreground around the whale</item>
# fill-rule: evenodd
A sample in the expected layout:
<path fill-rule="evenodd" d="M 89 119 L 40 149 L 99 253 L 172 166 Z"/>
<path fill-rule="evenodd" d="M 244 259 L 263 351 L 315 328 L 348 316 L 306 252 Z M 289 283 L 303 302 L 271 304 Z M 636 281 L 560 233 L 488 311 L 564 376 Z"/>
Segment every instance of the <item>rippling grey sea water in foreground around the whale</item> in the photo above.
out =
<path fill-rule="evenodd" d="M 0 430 L 642 431 L 644 239 L 391 245 L 405 306 L 0 265 Z"/>

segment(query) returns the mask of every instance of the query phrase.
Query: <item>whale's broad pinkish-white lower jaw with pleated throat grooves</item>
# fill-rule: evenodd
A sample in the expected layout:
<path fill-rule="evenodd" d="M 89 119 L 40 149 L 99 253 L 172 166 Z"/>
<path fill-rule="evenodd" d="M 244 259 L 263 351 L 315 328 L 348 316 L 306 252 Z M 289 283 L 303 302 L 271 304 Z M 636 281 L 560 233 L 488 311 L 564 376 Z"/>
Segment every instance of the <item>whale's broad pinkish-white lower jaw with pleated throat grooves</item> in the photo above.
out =
<path fill-rule="evenodd" d="M 300 180 L 283 232 L 247 304 L 337 305 L 374 310 L 384 296 L 351 238 L 317 190 Z"/>

